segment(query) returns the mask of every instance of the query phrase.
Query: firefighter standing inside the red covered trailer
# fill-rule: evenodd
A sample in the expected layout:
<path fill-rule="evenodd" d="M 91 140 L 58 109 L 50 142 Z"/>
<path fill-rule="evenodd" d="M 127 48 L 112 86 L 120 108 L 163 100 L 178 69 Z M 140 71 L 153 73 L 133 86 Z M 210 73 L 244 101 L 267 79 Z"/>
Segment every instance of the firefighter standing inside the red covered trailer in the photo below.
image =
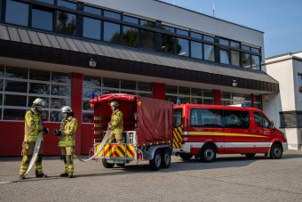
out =
<path fill-rule="evenodd" d="M 123 113 L 119 108 L 117 101 L 111 101 L 109 103 L 112 109 L 111 121 L 108 124 L 108 129 L 111 133 L 108 137 L 108 143 L 116 141 L 117 143 L 123 143 Z"/>

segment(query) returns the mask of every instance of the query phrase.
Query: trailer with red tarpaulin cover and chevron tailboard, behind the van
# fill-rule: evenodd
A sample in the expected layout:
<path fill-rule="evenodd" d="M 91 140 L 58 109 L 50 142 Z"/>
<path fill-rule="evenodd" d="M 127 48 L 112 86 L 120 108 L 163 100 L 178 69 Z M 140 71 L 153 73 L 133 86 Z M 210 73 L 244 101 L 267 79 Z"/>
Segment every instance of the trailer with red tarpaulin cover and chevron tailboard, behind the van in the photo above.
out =
<path fill-rule="evenodd" d="M 117 101 L 123 112 L 123 143 L 107 143 L 107 125 Z M 173 103 L 137 95 L 112 93 L 91 99 L 95 141 L 91 156 L 103 166 L 124 166 L 134 160 L 149 160 L 152 170 L 171 164 Z M 105 134 L 106 133 L 106 134 Z"/>

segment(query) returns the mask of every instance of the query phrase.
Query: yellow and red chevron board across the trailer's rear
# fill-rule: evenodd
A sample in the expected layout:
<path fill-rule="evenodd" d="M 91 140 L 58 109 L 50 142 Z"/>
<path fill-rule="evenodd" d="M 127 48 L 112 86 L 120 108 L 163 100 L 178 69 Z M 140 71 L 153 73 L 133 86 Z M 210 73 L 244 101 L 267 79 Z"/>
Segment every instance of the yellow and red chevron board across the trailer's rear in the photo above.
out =
<path fill-rule="evenodd" d="M 99 144 L 95 150 L 98 150 Z M 134 158 L 135 147 L 132 144 L 105 144 L 98 157 L 107 158 Z"/>

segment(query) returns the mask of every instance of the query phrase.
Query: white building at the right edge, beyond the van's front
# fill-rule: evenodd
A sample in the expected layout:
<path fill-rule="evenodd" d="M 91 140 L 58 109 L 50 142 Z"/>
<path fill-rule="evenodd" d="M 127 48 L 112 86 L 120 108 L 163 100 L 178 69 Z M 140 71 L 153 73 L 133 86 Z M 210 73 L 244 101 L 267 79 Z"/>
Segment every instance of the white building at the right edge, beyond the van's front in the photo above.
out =
<path fill-rule="evenodd" d="M 263 109 L 286 133 L 289 149 L 301 149 L 302 52 L 267 58 L 266 73 L 279 82 L 280 93 L 263 95 Z"/>

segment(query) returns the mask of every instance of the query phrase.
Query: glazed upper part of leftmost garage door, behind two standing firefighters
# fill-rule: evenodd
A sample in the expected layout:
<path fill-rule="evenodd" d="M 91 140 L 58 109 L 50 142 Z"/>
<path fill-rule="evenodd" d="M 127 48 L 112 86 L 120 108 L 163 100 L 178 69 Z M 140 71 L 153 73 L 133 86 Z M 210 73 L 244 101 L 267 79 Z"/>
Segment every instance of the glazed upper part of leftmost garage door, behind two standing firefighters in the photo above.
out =
<path fill-rule="evenodd" d="M 36 98 L 44 99 L 46 122 L 60 122 L 60 108 L 71 104 L 69 74 L 0 66 L 0 120 L 24 120 Z"/>

